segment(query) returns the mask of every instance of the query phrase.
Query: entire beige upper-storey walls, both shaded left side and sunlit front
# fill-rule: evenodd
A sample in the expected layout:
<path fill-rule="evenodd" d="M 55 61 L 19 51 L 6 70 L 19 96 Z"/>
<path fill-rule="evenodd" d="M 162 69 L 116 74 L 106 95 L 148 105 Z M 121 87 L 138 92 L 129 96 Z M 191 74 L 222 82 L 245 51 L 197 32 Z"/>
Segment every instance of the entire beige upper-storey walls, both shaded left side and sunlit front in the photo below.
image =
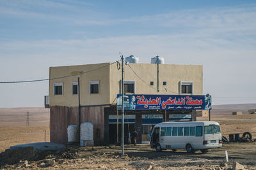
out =
<path fill-rule="evenodd" d="M 77 74 L 108 64 L 50 67 L 50 78 Z M 180 94 L 180 81 L 189 81 L 193 82 L 193 95 L 202 95 L 202 66 L 159 64 L 159 92 L 156 90 L 157 64 L 129 64 L 124 69 L 124 80 L 135 81 L 135 94 Z M 78 106 L 78 95 L 72 95 L 72 81 L 77 81 L 77 77 L 70 76 L 49 82 L 50 106 Z M 116 94 L 121 93 L 122 77 L 116 64 L 79 77 L 82 106 L 116 103 Z M 89 82 L 92 80 L 100 81 L 99 94 L 90 94 Z M 153 86 L 150 86 L 150 81 L 154 81 Z M 166 81 L 166 85 L 163 85 L 163 81 Z M 63 82 L 63 95 L 54 95 L 54 82 Z"/>

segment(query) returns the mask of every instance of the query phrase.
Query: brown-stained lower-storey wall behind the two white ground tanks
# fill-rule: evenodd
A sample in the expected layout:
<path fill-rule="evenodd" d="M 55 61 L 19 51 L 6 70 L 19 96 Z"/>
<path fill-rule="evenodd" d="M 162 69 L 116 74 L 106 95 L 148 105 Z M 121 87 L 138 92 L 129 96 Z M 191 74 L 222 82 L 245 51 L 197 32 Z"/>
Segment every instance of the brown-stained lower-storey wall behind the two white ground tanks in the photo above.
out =
<path fill-rule="evenodd" d="M 81 123 L 93 124 L 93 140 L 96 145 L 104 141 L 104 108 L 106 106 L 92 106 L 81 108 Z M 78 107 L 52 106 L 51 107 L 51 142 L 67 144 L 68 125 L 79 124 Z"/>

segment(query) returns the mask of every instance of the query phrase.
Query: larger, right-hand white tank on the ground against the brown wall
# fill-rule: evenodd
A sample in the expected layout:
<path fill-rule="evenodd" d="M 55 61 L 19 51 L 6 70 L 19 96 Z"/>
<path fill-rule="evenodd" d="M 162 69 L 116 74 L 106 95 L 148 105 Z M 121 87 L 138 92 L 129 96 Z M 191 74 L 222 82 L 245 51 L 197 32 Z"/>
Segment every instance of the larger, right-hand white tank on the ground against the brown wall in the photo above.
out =
<path fill-rule="evenodd" d="M 93 146 L 93 124 L 84 122 L 80 126 L 80 146 Z"/>

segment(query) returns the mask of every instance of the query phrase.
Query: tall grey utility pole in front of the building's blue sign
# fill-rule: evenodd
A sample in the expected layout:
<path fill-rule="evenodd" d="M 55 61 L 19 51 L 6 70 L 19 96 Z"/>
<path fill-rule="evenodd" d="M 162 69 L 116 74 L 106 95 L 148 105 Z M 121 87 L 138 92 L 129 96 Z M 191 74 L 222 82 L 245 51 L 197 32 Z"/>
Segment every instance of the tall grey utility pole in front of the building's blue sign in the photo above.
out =
<path fill-rule="evenodd" d="M 122 156 L 124 156 L 124 56 L 122 55 Z"/>

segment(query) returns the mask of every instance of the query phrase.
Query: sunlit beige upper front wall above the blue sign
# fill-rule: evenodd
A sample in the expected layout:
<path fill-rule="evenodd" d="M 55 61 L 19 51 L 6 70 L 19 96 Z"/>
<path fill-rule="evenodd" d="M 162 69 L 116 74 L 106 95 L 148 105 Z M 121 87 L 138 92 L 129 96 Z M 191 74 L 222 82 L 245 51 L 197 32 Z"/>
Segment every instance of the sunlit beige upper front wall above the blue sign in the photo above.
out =
<path fill-rule="evenodd" d="M 135 94 L 180 94 L 180 81 L 189 81 L 193 82 L 193 95 L 202 95 L 202 66 L 159 64 L 159 92 L 156 90 L 157 64 L 129 64 L 129 66 L 125 65 L 124 80 L 135 81 Z M 115 65 L 111 65 L 109 77 L 111 103 L 116 103 L 116 94 L 121 93 L 121 76 L 121 71 Z M 150 86 L 150 81 L 154 81 L 153 86 Z M 165 86 L 163 81 L 166 81 Z"/>

